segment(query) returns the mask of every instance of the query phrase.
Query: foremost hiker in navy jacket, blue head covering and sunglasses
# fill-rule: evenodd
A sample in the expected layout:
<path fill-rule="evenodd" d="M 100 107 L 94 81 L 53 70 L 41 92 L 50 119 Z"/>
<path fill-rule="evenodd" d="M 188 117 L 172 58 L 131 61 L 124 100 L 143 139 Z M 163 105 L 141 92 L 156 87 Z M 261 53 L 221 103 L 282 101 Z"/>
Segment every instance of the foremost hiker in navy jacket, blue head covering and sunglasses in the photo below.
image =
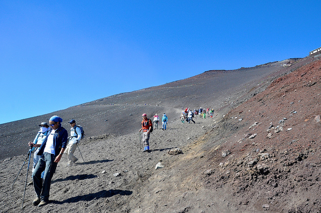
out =
<path fill-rule="evenodd" d="M 49 119 L 52 130 L 39 148 L 38 155 L 41 155 L 41 158 L 32 173 L 37 194 L 37 198 L 33 200 L 32 204 L 38 205 L 38 207 L 49 203 L 51 178 L 67 146 L 68 132 L 61 126 L 62 121 L 62 118 L 56 115 Z M 33 146 L 34 143 L 30 143 L 30 145 Z M 41 173 L 43 171 L 45 171 L 45 175 L 42 179 Z"/>

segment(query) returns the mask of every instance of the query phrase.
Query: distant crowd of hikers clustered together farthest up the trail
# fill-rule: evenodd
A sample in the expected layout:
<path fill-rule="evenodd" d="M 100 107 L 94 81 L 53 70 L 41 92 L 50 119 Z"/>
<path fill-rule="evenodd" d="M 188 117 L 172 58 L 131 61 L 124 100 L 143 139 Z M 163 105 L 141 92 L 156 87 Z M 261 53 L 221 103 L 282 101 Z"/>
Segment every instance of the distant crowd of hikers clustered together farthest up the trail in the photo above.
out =
<path fill-rule="evenodd" d="M 200 109 L 194 109 L 194 111 L 192 111 L 191 108 L 186 107 L 184 110 L 184 107 L 182 107 L 183 111 L 181 113 L 181 122 L 185 123 L 185 121 L 187 121 L 188 123 L 191 123 L 191 121 L 193 123 L 195 123 L 195 121 L 193 120 L 193 118 L 206 118 L 206 115 L 208 114 L 209 116 L 211 116 L 211 118 L 213 117 L 214 114 L 214 109 L 213 108 L 207 108 L 207 109 L 203 109 L 202 107 Z"/>

